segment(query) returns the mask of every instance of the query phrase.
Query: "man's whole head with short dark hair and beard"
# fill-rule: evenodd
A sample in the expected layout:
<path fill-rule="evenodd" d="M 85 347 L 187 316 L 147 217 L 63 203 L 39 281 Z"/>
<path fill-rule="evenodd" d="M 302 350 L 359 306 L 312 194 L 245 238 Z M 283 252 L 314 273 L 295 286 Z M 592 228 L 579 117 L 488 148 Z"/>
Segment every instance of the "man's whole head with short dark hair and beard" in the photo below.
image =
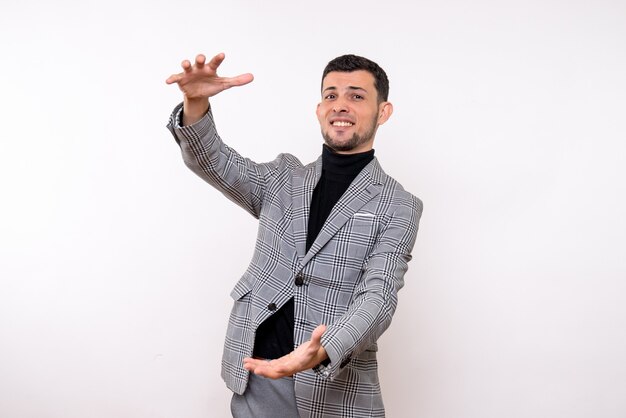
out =
<path fill-rule="evenodd" d="M 322 75 L 317 118 L 326 144 L 340 153 L 372 149 L 379 125 L 389 119 L 389 80 L 373 61 L 343 55 L 330 61 Z"/>

